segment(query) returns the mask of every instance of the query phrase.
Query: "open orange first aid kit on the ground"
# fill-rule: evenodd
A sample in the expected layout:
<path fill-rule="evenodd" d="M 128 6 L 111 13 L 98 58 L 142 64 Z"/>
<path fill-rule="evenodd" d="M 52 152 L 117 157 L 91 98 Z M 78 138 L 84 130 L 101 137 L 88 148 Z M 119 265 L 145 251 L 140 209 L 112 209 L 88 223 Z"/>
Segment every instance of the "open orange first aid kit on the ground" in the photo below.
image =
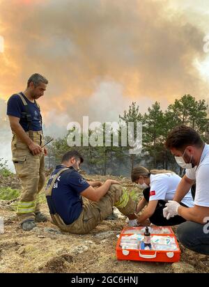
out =
<path fill-rule="evenodd" d="M 170 226 L 126 227 L 116 245 L 118 260 L 177 262 L 180 248 Z"/>

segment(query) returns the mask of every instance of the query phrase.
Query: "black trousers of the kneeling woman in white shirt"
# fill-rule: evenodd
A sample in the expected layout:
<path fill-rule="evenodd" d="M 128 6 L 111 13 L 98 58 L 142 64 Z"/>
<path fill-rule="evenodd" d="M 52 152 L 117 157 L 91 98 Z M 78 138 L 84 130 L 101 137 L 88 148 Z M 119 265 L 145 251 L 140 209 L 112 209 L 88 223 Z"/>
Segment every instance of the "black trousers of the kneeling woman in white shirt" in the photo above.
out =
<path fill-rule="evenodd" d="M 150 199 L 150 187 L 146 188 L 143 190 L 144 198 L 146 199 L 147 202 L 149 202 Z M 173 225 L 178 225 L 186 221 L 183 217 L 176 215 L 174 217 L 171 217 L 170 219 L 166 219 L 166 217 L 163 216 L 163 209 L 166 208 L 166 203 L 167 201 L 162 201 L 159 200 L 157 202 L 157 206 L 155 208 L 155 212 L 153 215 L 149 218 L 150 222 L 152 224 L 155 224 L 157 226 L 173 226 Z M 187 206 L 184 203 L 180 202 L 180 205 Z"/>

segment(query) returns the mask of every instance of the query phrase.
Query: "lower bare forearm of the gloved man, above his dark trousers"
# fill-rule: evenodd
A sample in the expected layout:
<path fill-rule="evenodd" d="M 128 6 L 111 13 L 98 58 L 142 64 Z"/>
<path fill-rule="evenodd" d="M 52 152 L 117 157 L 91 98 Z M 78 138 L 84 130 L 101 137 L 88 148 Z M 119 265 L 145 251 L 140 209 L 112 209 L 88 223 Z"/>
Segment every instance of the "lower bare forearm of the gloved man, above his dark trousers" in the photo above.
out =
<path fill-rule="evenodd" d="M 180 205 L 178 208 L 178 215 L 185 218 L 187 221 L 203 224 L 206 223 L 204 219 L 209 217 L 209 208 L 199 205 L 194 205 L 193 208 L 185 208 Z"/>

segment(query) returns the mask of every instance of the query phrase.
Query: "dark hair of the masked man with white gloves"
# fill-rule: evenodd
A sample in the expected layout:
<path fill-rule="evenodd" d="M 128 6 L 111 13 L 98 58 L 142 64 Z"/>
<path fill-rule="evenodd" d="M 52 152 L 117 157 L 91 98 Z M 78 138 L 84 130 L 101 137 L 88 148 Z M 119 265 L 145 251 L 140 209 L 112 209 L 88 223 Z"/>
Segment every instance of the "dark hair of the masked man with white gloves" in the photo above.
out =
<path fill-rule="evenodd" d="M 186 125 L 179 125 L 175 127 L 169 133 L 165 142 L 165 147 L 169 150 L 176 148 L 177 150 L 183 150 L 187 146 L 196 146 L 201 148 L 203 146 L 203 140 L 196 130 Z"/>

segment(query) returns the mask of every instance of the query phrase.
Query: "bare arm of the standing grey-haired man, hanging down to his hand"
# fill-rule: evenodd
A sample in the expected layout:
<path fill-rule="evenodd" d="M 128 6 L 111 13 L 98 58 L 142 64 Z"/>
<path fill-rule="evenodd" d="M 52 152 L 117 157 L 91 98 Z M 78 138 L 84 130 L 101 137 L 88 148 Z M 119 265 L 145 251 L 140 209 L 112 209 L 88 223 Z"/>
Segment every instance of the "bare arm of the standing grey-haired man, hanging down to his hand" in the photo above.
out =
<path fill-rule="evenodd" d="M 10 127 L 17 134 L 17 137 L 29 147 L 33 155 L 38 155 L 38 153 L 42 152 L 41 147 L 37 143 L 33 143 L 33 141 L 29 138 L 28 134 L 23 130 L 20 125 L 20 118 L 16 116 L 8 116 L 10 121 Z"/>

